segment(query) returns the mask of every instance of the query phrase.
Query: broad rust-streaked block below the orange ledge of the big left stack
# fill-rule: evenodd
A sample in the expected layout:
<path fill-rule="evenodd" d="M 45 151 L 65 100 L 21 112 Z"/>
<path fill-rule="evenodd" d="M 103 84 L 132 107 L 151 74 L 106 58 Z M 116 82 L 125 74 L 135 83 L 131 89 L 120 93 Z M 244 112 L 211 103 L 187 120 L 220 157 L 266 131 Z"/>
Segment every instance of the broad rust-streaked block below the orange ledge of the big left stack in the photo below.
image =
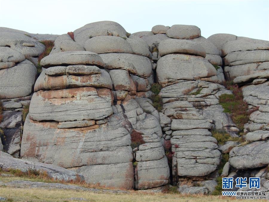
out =
<path fill-rule="evenodd" d="M 40 162 L 64 168 L 133 160 L 132 148 L 129 146 L 130 122 L 119 113 L 110 116 L 107 124 L 85 127 L 83 130 L 58 129 L 57 125 L 58 122 L 55 121 L 37 122 L 27 117 L 22 135 L 21 157 L 35 157 Z M 46 146 L 38 149 L 39 145 Z M 63 155 L 65 158 L 62 158 Z"/>

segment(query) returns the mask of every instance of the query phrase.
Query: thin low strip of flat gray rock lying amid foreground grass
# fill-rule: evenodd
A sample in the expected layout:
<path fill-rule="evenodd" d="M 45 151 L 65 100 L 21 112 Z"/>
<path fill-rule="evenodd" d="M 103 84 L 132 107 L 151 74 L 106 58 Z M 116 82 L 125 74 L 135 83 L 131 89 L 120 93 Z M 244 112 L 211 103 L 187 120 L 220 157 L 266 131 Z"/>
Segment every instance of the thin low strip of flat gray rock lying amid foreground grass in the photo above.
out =
<path fill-rule="evenodd" d="M 24 188 L 24 189 L 70 189 L 70 190 L 82 190 L 88 192 L 105 192 L 105 193 L 124 193 L 128 194 L 127 191 L 121 190 L 108 190 L 108 189 L 92 189 L 92 188 L 85 188 L 76 185 L 67 185 L 61 183 L 47 183 L 47 182 L 32 182 L 27 180 L 15 180 L 7 183 L 1 183 L 1 185 L 5 185 L 8 187 L 15 187 L 15 188 Z M 77 200 L 77 199 L 76 199 Z"/>

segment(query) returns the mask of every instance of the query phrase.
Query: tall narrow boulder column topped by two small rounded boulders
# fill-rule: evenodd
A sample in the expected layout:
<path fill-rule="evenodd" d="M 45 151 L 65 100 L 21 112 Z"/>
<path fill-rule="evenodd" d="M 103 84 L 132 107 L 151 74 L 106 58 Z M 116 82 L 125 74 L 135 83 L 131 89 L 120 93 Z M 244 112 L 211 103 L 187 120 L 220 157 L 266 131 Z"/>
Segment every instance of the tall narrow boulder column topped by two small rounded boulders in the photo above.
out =
<path fill-rule="evenodd" d="M 212 192 L 221 153 L 210 130 L 238 131 L 218 104 L 220 95 L 231 93 L 221 85 L 221 52 L 192 25 L 156 25 L 133 35 L 153 51 L 162 113 L 172 120 L 163 125 L 163 137 L 172 144 L 172 183 L 182 193 Z"/>

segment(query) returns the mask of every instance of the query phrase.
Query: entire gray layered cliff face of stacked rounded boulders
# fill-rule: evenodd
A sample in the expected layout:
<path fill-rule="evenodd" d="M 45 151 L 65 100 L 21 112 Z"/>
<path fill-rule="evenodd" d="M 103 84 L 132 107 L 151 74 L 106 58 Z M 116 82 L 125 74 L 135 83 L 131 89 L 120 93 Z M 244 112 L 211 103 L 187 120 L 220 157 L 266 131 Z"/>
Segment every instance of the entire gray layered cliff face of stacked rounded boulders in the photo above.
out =
<path fill-rule="evenodd" d="M 88 183 L 173 184 L 182 193 L 206 194 L 230 152 L 221 175 L 262 177 L 268 191 L 268 41 L 231 34 L 206 39 L 193 25 L 129 34 L 102 21 L 42 36 L 54 47 L 39 64 L 45 46 L 34 37 L 1 28 L 7 153 L 75 171 Z M 35 66 L 42 66 L 37 79 Z M 224 97 L 235 93 L 225 87 L 231 80 L 253 111 L 244 127 L 225 111 Z M 22 106 L 29 104 L 24 121 Z M 222 145 L 219 131 L 233 141 Z M 239 136 L 248 142 L 237 142 Z"/>

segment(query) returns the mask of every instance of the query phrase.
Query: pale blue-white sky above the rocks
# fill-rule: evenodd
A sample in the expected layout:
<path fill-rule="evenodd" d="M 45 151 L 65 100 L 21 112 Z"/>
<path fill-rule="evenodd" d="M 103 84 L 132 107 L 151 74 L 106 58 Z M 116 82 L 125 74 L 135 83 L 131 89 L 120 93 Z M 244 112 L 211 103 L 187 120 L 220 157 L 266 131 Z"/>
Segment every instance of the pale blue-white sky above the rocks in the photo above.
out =
<path fill-rule="evenodd" d="M 269 40 L 269 0 L 0 0 L 0 26 L 34 34 L 66 34 L 102 20 L 118 22 L 129 33 L 180 24 L 198 26 L 206 38 L 227 33 Z"/>

